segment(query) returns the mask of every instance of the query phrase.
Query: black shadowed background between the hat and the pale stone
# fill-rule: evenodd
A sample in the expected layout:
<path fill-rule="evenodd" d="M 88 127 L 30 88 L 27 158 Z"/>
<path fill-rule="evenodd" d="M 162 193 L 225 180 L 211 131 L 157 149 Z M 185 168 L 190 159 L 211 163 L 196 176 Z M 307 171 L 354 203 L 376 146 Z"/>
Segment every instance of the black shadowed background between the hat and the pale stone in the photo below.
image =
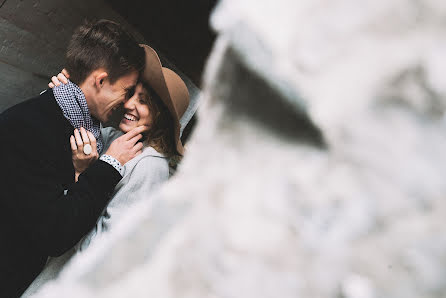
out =
<path fill-rule="evenodd" d="M 215 34 L 209 27 L 213 0 L 106 0 L 198 87 Z"/>

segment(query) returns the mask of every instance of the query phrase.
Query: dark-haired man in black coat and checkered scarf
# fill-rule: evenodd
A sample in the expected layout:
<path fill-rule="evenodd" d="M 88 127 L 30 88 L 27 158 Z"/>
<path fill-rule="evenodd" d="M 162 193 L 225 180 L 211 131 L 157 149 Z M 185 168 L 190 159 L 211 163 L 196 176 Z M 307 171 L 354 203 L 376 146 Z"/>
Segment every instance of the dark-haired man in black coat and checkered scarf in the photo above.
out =
<path fill-rule="evenodd" d="M 101 151 L 100 122 L 135 87 L 144 50 L 118 24 L 101 20 L 76 30 L 66 58 L 69 84 L 0 115 L 0 297 L 23 293 L 48 256 L 63 254 L 94 226 L 122 165 L 141 149 L 139 127 L 75 182 L 73 130 L 87 128 L 84 143 L 94 135 Z"/>

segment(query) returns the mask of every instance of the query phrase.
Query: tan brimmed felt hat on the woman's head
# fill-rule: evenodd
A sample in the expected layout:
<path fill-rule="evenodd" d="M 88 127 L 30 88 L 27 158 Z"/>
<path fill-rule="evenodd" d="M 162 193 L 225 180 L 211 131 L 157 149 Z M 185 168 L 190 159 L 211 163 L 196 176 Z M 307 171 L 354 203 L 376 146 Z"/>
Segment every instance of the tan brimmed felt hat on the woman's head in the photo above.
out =
<path fill-rule="evenodd" d="M 180 118 L 189 106 L 189 91 L 186 84 L 174 71 L 163 67 L 158 54 L 148 45 L 140 45 L 146 52 L 146 66 L 143 79 L 153 88 L 174 120 L 175 145 L 178 153 L 184 154 L 180 140 Z"/>

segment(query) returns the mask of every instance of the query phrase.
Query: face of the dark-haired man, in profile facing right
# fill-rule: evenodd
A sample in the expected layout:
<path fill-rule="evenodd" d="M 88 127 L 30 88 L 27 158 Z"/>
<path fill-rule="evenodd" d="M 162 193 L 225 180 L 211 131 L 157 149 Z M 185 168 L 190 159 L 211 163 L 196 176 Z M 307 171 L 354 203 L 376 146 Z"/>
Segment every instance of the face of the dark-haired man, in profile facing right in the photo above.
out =
<path fill-rule="evenodd" d="M 107 122 L 112 112 L 125 101 L 127 92 L 135 87 L 137 79 L 136 70 L 119 78 L 114 84 L 105 79 L 95 97 L 95 111 L 91 111 L 91 114 L 102 123 Z"/>

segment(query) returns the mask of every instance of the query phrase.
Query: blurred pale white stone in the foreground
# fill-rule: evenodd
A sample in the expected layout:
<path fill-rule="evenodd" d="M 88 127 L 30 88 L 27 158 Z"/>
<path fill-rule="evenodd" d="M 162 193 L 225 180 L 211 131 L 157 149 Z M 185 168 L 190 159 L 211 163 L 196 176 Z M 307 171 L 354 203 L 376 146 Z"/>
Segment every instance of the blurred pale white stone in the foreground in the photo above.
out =
<path fill-rule="evenodd" d="M 222 0 L 179 171 L 37 297 L 445 297 L 445 20 Z"/>

